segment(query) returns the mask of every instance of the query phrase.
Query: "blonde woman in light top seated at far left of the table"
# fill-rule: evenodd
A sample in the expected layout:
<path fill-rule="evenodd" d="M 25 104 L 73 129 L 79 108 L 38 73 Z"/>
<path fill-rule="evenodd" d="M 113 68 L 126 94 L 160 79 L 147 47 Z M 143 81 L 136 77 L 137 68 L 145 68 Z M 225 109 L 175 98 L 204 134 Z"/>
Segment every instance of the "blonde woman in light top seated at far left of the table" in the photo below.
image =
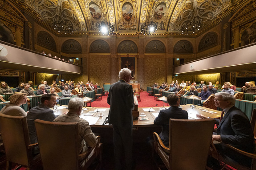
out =
<path fill-rule="evenodd" d="M 15 93 L 10 97 L 10 103 L 6 104 L 5 107 L 0 111 L 5 115 L 11 116 L 27 116 L 20 105 L 27 103 L 27 94 L 26 93 Z"/>

